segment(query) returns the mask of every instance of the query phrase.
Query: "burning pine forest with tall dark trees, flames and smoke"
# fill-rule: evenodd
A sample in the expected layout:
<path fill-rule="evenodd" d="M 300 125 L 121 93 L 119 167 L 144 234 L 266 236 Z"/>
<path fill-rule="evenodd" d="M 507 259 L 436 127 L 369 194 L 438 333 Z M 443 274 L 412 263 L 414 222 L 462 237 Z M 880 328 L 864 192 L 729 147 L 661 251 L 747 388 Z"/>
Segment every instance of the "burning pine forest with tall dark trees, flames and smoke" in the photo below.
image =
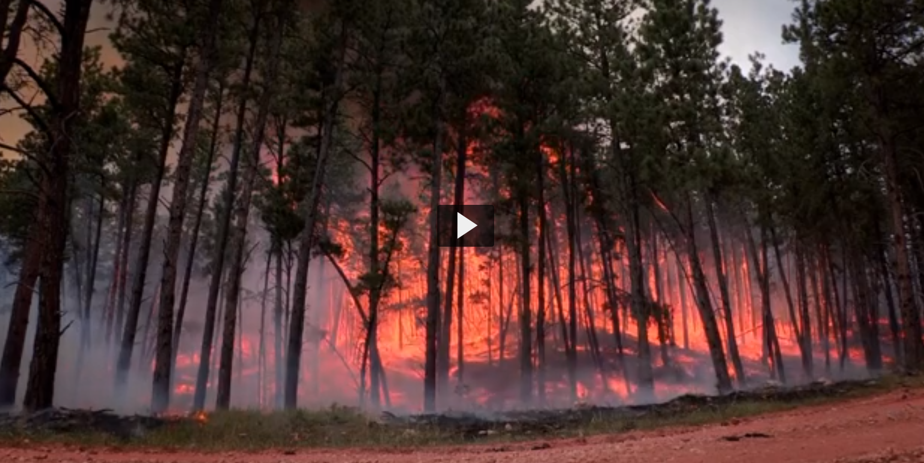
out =
<path fill-rule="evenodd" d="M 813 37 L 841 8 L 790 38 L 819 63 L 747 73 L 700 0 L 214 1 L 112 6 L 115 69 L 66 2 L 58 55 L 15 60 L 65 94 L 6 85 L 33 131 L 0 164 L 0 408 L 642 404 L 924 364 L 920 117 L 829 81 L 894 60 Z M 441 246 L 476 203 L 494 246 Z"/>

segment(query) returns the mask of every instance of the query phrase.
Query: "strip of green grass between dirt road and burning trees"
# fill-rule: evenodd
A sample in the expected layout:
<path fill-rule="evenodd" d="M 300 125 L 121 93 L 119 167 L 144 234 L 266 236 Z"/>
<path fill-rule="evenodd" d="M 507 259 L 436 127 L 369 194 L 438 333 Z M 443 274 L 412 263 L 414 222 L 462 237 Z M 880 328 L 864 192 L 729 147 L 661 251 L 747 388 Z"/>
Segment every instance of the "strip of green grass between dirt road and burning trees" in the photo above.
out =
<path fill-rule="evenodd" d="M 216 412 L 204 422 L 176 420 L 131 439 L 107 433 L 49 433 L 23 429 L 0 431 L 0 445 L 55 443 L 80 446 L 156 447 L 196 450 L 261 450 L 298 447 L 377 447 L 396 448 L 464 443 L 503 443 L 533 439 L 587 436 L 598 433 L 622 433 L 669 426 L 695 426 L 740 419 L 764 413 L 872 396 L 900 388 L 924 386 L 921 377 L 885 376 L 875 384 L 853 387 L 836 396 L 798 400 L 742 400 L 736 403 L 705 406 L 669 413 L 649 414 L 638 419 L 592 419 L 565 429 L 524 432 L 505 428 L 483 430 L 477 438 L 458 430 L 433 426 L 381 424 L 352 408 L 332 407 L 322 410 L 261 412 L 231 410 Z M 468 435 L 467 435 L 468 434 Z"/>

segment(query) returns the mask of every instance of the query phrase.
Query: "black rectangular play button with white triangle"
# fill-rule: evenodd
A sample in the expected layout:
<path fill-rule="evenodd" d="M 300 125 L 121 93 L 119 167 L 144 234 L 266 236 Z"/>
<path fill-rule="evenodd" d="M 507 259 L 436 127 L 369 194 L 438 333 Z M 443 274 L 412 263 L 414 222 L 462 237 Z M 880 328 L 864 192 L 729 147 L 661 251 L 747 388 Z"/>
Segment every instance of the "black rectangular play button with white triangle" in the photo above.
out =
<path fill-rule="evenodd" d="M 441 204 L 436 213 L 440 246 L 494 245 L 494 206 Z"/>

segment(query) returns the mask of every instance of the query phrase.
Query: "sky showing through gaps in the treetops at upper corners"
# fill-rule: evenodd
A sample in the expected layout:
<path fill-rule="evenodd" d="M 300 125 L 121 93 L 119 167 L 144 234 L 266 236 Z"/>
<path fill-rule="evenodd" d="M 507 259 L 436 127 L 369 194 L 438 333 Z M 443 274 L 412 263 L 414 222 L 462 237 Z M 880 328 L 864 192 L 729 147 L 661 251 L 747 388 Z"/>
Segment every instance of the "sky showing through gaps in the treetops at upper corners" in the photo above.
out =
<path fill-rule="evenodd" d="M 374 0 L 372 0 L 374 1 Z M 48 6 L 55 6 L 59 0 L 43 0 Z M 798 64 L 798 51 L 795 45 L 784 45 L 781 38 L 783 25 L 790 22 L 790 15 L 795 4 L 793 0 L 712 0 L 712 6 L 719 10 L 723 19 L 724 43 L 723 55 L 732 58 L 738 66 L 748 70 L 748 55 L 760 51 L 766 55 L 767 62 L 781 70 L 789 70 Z M 107 49 L 105 9 L 101 3 L 94 5 L 91 15 L 90 30 L 87 38 L 91 45 L 103 45 L 103 59 L 108 64 L 116 65 L 118 56 Z M 27 62 L 35 59 L 35 51 L 30 43 L 24 43 L 20 56 Z M 6 108 L 6 102 L 0 103 Z M 0 141 L 15 145 L 29 129 L 17 116 L 3 116 L 0 122 Z M 6 154 L 8 155 L 8 153 Z"/>

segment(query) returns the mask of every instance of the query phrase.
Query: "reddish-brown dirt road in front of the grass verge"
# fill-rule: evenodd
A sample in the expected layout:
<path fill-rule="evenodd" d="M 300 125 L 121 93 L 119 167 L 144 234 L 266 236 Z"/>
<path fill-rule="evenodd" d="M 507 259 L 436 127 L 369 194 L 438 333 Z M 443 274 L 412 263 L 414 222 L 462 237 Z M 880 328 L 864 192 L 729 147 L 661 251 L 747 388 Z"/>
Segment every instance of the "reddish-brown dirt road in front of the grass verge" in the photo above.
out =
<path fill-rule="evenodd" d="M 2 462 L 910 463 L 924 462 L 924 392 L 898 391 L 699 428 L 421 450 L 260 454 L 0 448 Z"/>

